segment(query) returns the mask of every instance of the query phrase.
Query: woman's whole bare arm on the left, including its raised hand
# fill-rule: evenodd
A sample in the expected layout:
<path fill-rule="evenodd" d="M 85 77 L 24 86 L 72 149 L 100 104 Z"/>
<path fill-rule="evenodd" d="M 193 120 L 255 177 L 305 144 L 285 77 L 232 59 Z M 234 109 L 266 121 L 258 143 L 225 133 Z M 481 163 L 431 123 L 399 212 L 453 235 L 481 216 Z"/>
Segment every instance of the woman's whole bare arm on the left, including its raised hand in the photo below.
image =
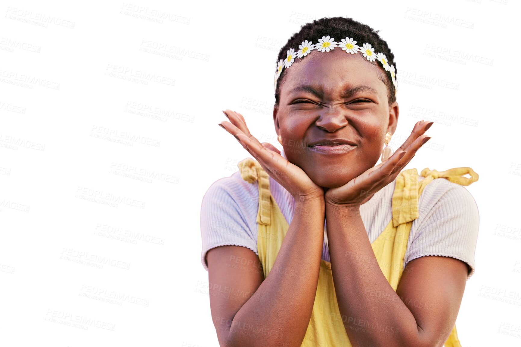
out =
<path fill-rule="evenodd" d="M 219 125 L 290 192 L 296 209 L 274 268 L 264 280 L 263 273 L 259 272 L 258 257 L 253 252 L 234 253 L 238 251 L 233 247 L 208 252 L 208 276 L 213 283 L 210 306 L 219 342 L 232 347 L 298 347 L 309 324 L 318 283 L 324 242 L 324 189 L 299 166 L 282 157 L 274 146 L 259 143 L 240 113 L 223 112 L 230 122 Z M 245 263 L 250 265 L 241 271 L 232 268 L 237 256 L 244 256 Z M 232 302 L 215 295 L 215 288 L 219 286 L 231 288 L 236 300 Z M 255 292 L 254 297 L 241 296 L 241 290 Z"/>

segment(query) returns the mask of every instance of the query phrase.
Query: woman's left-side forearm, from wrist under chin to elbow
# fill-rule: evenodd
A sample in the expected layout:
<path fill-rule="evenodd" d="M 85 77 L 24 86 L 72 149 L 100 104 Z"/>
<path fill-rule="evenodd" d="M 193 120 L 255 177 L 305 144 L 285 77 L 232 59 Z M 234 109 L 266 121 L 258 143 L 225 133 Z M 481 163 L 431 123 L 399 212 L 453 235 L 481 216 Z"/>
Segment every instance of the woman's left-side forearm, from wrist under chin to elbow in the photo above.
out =
<path fill-rule="evenodd" d="M 323 198 L 296 203 L 273 268 L 255 292 L 267 299 L 250 299 L 235 314 L 229 331 L 231 346 L 302 344 L 315 301 L 324 219 Z"/>

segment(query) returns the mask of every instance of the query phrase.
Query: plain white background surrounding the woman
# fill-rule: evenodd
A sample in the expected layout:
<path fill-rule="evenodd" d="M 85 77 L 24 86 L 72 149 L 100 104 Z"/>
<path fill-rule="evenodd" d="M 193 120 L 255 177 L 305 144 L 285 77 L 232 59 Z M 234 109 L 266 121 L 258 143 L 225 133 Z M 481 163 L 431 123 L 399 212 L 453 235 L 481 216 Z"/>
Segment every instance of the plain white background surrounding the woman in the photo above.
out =
<path fill-rule="evenodd" d="M 391 47 L 394 150 L 415 122 L 435 122 L 406 168 L 479 174 L 467 187 L 480 229 L 456 321 L 463 347 L 521 344 L 517 2 L 7 1 L 0 10 L 0 344 L 218 345 L 201 200 L 250 157 L 217 126 L 221 110 L 278 145 L 278 50 L 325 16 L 366 23 Z"/>

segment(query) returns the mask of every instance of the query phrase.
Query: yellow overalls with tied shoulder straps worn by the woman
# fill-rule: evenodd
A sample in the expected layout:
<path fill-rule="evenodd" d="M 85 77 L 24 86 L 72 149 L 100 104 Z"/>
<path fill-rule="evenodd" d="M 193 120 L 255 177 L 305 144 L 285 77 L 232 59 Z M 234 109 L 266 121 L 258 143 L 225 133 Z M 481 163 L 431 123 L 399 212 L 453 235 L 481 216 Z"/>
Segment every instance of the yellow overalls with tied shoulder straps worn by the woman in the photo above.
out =
<path fill-rule="evenodd" d="M 257 212 L 257 252 L 263 265 L 264 278 L 269 274 L 282 245 L 289 225 L 280 211 L 277 202 L 269 191 L 269 176 L 261 165 L 252 158 L 238 163 L 241 177 L 253 183 L 258 181 L 259 208 Z M 472 177 L 463 175 L 469 173 Z M 418 198 L 433 179 L 443 177 L 451 182 L 468 186 L 477 181 L 478 175 L 470 168 L 454 168 L 443 172 L 424 169 L 418 182 L 416 169 L 403 170 L 396 177 L 392 195 L 392 220 L 383 232 L 371 243 L 382 273 L 396 291 L 403 272 L 403 259 L 413 220 L 418 217 Z M 320 261 L 315 303 L 311 320 L 307 327 L 302 347 L 351 347 L 345 331 L 337 296 L 334 291 L 331 263 Z M 457 338 L 456 326 L 452 328 L 445 347 L 461 347 Z"/>

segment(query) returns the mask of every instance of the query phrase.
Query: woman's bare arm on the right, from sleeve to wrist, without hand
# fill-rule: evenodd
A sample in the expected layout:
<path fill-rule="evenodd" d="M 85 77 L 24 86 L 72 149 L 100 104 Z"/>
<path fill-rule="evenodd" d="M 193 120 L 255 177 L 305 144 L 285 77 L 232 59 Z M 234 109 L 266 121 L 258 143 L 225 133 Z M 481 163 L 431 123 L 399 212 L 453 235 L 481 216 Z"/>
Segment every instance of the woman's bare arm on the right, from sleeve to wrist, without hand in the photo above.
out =
<path fill-rule="evenodd" d="M 353 346 L 442 346 L 456 321 L 467 264 L 441 256 L 412 260 L 394 292 L 359 209 L 327 204 L 326 220 L 334 287 Z"/>

